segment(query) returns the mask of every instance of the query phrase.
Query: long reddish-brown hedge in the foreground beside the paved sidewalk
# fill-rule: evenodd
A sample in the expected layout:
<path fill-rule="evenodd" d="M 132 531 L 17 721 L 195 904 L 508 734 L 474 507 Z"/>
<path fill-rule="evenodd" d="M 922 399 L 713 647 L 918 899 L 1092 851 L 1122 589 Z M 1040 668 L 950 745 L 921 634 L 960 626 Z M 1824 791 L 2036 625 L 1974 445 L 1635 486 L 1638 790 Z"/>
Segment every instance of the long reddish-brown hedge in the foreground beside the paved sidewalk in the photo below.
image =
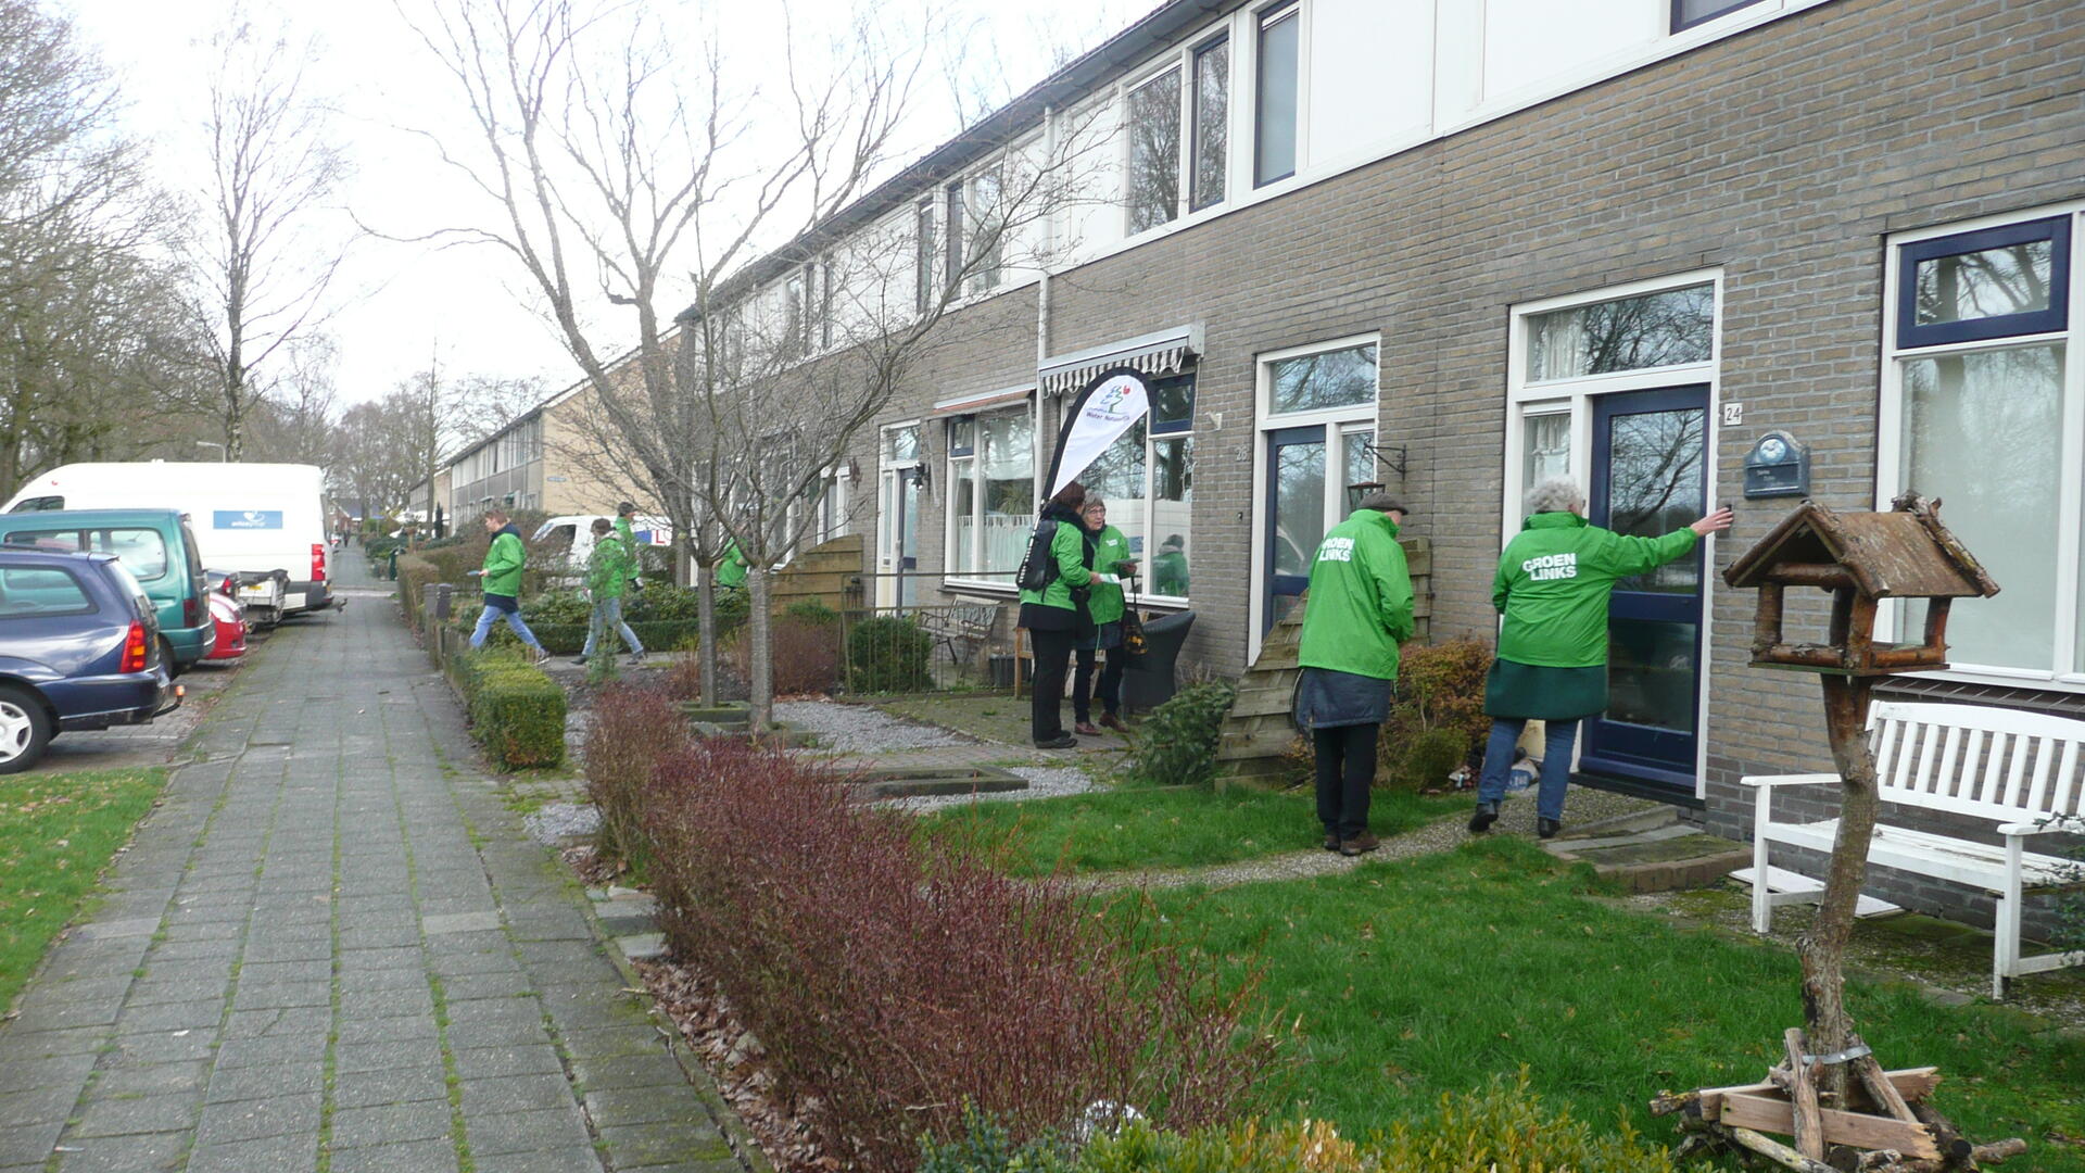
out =
<path fill-rule="evenodd" d="M 1009 879 L 815 764 L 690 739 L 638 808 L 673 952 L 717 981 L 838 1167 L 913 1169 L 965 1098 L 1015 1146 L 1095 1100 L 1211 1125 L 1274 1069 L 1272 1035 L 1243 1029 L 1257 979 L 1224 989 L 1143 904 Z"/>

